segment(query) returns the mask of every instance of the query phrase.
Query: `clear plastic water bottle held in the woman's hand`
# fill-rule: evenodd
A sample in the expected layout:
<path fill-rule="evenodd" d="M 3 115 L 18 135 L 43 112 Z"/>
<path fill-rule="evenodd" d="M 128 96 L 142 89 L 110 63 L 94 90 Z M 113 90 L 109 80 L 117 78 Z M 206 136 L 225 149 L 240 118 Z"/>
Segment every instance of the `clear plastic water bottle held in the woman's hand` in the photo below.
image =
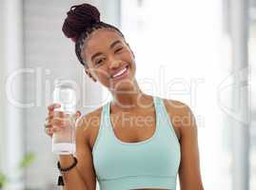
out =
<path fill-rule="evenodd" d="M 65 127 L 52 135 L 52 152 L 57 155 L 75 153 L 76 89 L 70 81 L 57 81 L 53 91 L 53 103 L 61 104 L 54 111 L 65 113 Z"/>

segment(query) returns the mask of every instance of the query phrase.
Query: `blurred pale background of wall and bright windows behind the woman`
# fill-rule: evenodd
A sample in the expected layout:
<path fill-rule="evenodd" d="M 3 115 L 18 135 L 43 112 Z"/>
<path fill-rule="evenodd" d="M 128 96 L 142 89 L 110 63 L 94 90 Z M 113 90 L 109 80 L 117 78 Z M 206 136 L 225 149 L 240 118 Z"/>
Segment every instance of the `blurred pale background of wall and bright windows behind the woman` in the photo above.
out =
<path fill-rule="evenodd" d="M 0 182 L 1 174 L 8 176 L 5 188 L 58 189 L 57 158 L 43 126 L 54 80 L 79 86 L 83 114 L 110 98 L 85 75 L 74 44 L 61 31 L 70 6 L 85 2 L 125 33 L 145 92 L 192 108 L 205 189 L 255 189 L 254 0 L 0 0 Z M 24 157 L 31 163 L 17 168 Z"/>

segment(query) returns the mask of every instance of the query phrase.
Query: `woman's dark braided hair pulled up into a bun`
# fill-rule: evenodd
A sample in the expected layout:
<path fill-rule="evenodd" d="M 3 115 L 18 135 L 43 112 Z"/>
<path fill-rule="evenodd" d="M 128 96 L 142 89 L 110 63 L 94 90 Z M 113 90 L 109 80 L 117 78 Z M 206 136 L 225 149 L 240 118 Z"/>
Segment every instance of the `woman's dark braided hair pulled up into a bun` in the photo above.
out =
<path fill-rule="evenodd" d="M 79 62 L 88 68 L 88 64 L 81 56 L 81 51 L 84 47 L 89 34 L 98 28 L 108 28 L 118 32 L 123 38 L 123 33 L 116 27 L 100 21 L 100 12 L 97 8 L 89 4 L 81 4 L 72 6 L 68 11 L 68 16 L 64 21 L 62 31 L 71 38 L 75 43 L 75 53 Z"/>

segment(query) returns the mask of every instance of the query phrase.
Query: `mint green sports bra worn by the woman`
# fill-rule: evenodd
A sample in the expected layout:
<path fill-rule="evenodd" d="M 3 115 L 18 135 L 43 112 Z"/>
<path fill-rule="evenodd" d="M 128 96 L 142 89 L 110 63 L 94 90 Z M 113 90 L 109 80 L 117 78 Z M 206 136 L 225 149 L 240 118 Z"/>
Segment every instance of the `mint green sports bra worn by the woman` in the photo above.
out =
<path fill-rule="evenodd" d="M 103 105 L 99 133 L 92 149 L 101 190 L 176 189 L 180 143 L 162 98 L 153 96 L 156 129 L 143 142 L 122 142 L 110 122 L 110 102 Z"/>

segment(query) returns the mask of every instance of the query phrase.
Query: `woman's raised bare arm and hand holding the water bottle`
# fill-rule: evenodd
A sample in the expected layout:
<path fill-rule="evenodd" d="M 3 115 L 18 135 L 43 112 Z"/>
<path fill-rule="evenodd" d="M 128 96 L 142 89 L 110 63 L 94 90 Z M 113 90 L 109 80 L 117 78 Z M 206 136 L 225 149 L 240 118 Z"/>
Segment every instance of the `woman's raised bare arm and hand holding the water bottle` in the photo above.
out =
<path fill-rule="evenodd" d="M 54 108 L 59 107 L 58 104 L 50 104 L 49 117 L 47 118 L 48 127 L 47 134 L 52 137 L 54 131 L 61 130 L 61 121 L 65 118 L 63 112 L 54 111 Z M 81 113 L 77 111 L 76 116 L 79 117 Z M 83 123 L 82 119 L 87 116 L 81 117 L 76 122 L 76 158 L 77 165 L 63 173 L 64 178 L 64 188 L 65 190 L 95 190 L 96 189 L 96 178 L 92 166 L 91 150 L 89 147 L 89 130 L 85 130 L 89 127 L 89 123 Z M 87 126 L 87 125 L 88 126 Z M 60 165 L 61 167 L 69 167 L 73 163 L 72 155 L 60 155 Z"/>

